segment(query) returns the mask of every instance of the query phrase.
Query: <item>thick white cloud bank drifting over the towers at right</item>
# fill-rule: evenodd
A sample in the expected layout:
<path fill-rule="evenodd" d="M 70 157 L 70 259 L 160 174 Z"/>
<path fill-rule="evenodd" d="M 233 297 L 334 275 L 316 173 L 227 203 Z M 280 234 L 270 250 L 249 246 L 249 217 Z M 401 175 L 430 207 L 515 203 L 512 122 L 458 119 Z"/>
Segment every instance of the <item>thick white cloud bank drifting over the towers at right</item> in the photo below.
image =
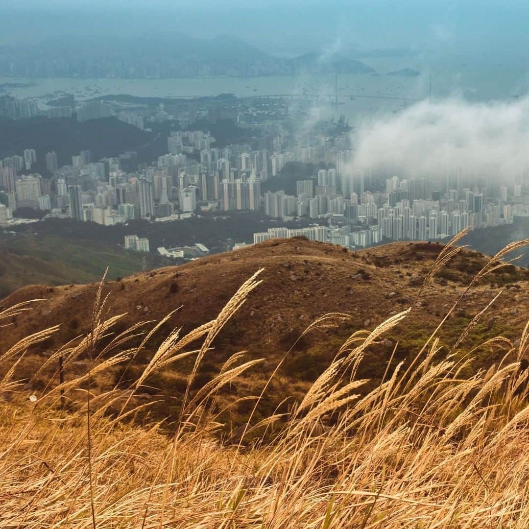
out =
<path fill-rule="evenodd" d="M 352 168 L 385 168 L 443 177 L 461 170 L 501 183 L 521 181 L 529 167 L 529 97 L 471 103 L 460 97 L 423 101 L 361 123 Z"/>

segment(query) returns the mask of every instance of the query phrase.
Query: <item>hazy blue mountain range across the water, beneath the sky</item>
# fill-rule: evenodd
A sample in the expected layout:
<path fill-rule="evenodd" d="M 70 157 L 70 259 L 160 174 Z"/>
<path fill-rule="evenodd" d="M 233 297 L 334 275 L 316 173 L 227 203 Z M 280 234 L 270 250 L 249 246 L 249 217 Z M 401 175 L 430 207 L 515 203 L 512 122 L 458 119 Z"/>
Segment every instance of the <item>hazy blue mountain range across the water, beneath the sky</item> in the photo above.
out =
<path fill-rule="evenodd" d="M 0 75 L 23 77 L 178 78 L 274 74 L 370 73 L 345 54 L 271 56 L 230 35 L 198 39 L 181 33 L 134 37 L 60 36 L 37 45 L 0 47 Z"/>

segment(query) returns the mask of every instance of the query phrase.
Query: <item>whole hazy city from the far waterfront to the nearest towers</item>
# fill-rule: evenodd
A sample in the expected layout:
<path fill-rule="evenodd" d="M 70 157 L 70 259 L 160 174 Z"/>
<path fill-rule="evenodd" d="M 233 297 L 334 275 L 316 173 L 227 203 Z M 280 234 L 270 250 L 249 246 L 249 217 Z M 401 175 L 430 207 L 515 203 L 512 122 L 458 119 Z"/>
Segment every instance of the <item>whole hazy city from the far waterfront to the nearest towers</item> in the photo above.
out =
<path fill-rule="evenodd" d="M 72 218 L 111 226 L 138 218 L 168 223 L 261 212 L 277 227 L 235 242 L 233 248 L 305 236 L 354 249 L 388 241 L 443 240 L 466 228 L 512 224 L 529 215 L 523 173 L 507 185 L 497 184 L 493 175 L 476 178 L 451 166 L 440 168 L 436 177 L 413 168 L 405 173 L 355 167 L 351 127 L 343 116 L 310 129 L 291 126 L 303 122 L 314 104 L 227 95 L 172 107 L 100 99 L 76 105 L 74 95 L 60 94 L 41 110 L 33 100 L 4 96 L 0 109 L 12 119 L 41 115 L 85 123 L 114 116 L 142 131 L 164 123 L 176 130 L 167 129 L 166 152 L 151 163 L 140 163 L 134 151 L 97 159 L 82 150 L 67 163 L 48 151 L 39 160 L 42 154 L 32 145 L 1 159 L 0 225 Z M 226 118 L 245 131 L 244 141 L 217 147 L 219 138 L 200 123 Z M 35 167 L 45 167 L 45 174 Z M 28 210 L 42 214 L 24 218 Z M 184 256 L 181 249 L 150 248 L 134 233 L 125 239 L 126 249 Z M 205 253 L 204 245 L 191 252 Z"/>

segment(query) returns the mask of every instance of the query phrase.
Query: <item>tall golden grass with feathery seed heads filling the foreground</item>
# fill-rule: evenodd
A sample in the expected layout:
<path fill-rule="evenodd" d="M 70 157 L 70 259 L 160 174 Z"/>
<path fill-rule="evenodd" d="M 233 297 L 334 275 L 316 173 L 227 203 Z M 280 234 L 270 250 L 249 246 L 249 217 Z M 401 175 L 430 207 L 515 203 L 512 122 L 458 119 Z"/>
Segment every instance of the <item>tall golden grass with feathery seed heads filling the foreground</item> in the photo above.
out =
<path fill-rule="evenodd" d="M 448 247 L 436 266 L 451 254 Z M 528 353 L 529 324 L 516 346 L 502 337 L 489 340 L 489 347 L 505 350 L 503 361 L 463 378 L 472 360 L 457 360 L 452 350 L 443 357 L 436 336 L 443 318 L 406 370 L 402 363 L 388 369 L 375 390 L 359 394 L 364 381 L 356 372 L 364 352 L 382 336 L 398 335 L 412 307 L 371 332 L 354 333 L 302 402 L 258 424 L 249 419 L 236 444 L 228 445 L 216 435 L 215 397 L 259 360 L 241 363 L 244 354 L 233 355 L 202 389 L 191 387 L 215 336 L 258 284 L 256 274 L 216 320 L 183 338 L 171 332 L 128 390 L 97 394 L 89 382 L 134 361 L 163 322 L 139 348 L 129 341 L 148 322 L 110 338 L 118 317 L 104 315 L 103 284 L 90 333 L 43 360 L 69 363 L 83 355 L 86 374 L 53 387 L 50 382 L 31 402 L 12 380 L 14 366 L 54 328 L 0 355 L 0 363 L 11 366 L 0 381 L 0 527 L 528 526 L 529 386 L 519 368 Z M 27 308 L 0 313 L 0 324 Z M 306 332 L 344 317 L 324 316 Z M 103 338 L 106 345 L 99 346 Z M 452 349 L 465 338 L 466 332 L 454 336 Z M 198 348 L 197 340 L 203 340 Z M 163 423 L 136 424 L 134 415 L 148 406 L 136 395 L 149 376 L 189 355 L 195 355 L 194 367 L 171 433 Z M 68 409 L 61 395 L 71 399 Z"/>

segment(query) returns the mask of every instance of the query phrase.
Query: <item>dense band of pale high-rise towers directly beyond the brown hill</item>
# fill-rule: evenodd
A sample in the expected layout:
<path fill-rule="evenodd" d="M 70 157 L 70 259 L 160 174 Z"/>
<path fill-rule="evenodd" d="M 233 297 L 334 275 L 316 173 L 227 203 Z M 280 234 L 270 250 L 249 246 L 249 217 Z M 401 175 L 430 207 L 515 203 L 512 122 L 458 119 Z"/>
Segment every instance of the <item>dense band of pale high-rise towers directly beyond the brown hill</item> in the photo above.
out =
<path fill-rule="evenodd" d="M 203 111 L 195 112 L 187 114 L 186 125 Z M 92 105 L 81 119 L 97 120 L 108 113 L 113 113 L 110 106 Z M 384 164 L 355 167 L 354 136 L 346 128 L 330 135 L 336 126 L 332 120 L 325 125 L 327 132 L 299 135 L 287 132 L 284 118 L 278 116 L 244 124 L 253 115 L 250 106 L 235 116 L 256 134 L 253 147 L 242 143 L 221 149 L 214 147 L 216 138 L 209 132 L 174 131 L 167 136 L 167 154 L 143 169 L 136 168 L 135 153 L 96 161 L 84 150 L 71 157 L 71 164 L 59 166 L 57 154 L 50 151 L 45 163 L 51 179 L 31 173 L 17 176 L 37 163 L 35 151 L 25 149 L 24 156 L 0 161 L 0 188 L 7 202 L 4 224 L 11 210 L 19 207 L 103 225 L 142 217 L 177 222 L 200 212 L 261 211 L 280 221 L 320 222 L 315 240 L 364 248 L 389 240 L 443 240 L 464 229 L 486 229 L 529 215 L 526 175 L 502 184 L 487 174 L 476 177 L 473 171 L 450 164 L 437 168 L 434 176 Z M 145 113 L 128 121 L 143 127 L 160 118 L 174 116 Z M 286 188 L 261 190 L 268 181 L 281 178 L 285 168 L 307 164 L 314 164 L 313 172 L 295 180 L 291 193 Z M 278 233 L 313 237 L 312 227 L 270 230 L 254 234 L 253 243 Z"/>

